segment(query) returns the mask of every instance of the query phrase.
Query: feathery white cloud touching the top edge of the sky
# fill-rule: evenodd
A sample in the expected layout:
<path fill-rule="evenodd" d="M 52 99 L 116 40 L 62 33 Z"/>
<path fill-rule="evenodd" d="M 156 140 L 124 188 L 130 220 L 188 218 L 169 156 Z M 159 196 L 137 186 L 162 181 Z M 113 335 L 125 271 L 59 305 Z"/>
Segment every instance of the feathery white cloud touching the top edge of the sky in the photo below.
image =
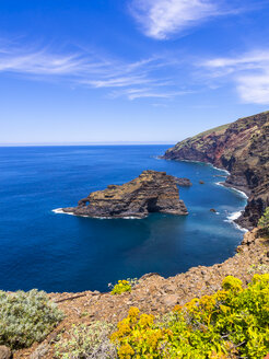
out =
<path fill-rule="evenodd" d="M 132 0 L 130 12 L 145 35 L 165 39 L 212 18 L 242 11 L 225 0 Z"/>

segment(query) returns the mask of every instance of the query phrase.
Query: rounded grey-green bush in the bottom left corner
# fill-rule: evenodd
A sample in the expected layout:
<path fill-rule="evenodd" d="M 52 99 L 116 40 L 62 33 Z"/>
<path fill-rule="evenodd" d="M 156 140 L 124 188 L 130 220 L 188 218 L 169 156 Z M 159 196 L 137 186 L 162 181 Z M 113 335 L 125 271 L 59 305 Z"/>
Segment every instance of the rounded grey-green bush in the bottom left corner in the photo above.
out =
<path fill-rule="evenodd" d="M 0 291 L 0 345 L 28 347 L 43 340 L 62 317 L 44 291 Z"/>

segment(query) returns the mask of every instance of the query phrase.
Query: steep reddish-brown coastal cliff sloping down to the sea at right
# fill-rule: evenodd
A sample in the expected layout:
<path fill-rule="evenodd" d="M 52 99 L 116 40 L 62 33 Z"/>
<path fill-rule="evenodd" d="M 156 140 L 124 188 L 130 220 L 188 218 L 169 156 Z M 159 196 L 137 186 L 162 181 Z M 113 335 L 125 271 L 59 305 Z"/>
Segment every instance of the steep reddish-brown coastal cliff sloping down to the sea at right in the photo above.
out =
<path fill-rule="evenodd" d="M 163 158 L 209 162 L 227 170 L 225 185 L 249 196 L 237 220 L 243 227 L 254 228 L 269 205 L 269 112 L 187 138 Z"/>

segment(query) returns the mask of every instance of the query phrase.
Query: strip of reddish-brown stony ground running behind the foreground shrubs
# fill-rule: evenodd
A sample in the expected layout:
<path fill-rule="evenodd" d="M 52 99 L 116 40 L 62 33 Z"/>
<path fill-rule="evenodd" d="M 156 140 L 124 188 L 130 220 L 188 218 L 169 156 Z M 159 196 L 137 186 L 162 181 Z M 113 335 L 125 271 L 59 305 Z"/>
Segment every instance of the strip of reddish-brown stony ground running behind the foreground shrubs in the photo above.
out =
<path fill-rule="evenodd" d="M 236 254 L 222 264 L 211 267 L 194 267 L 187 273 L 167 279 L 157 274 L 143 276 L 131 292 L 112 296 L 97 291 L 81 293 L 50 293 L 66 319 L 42 344 L 14 354 L 15 359 L 49 359 L 54 357 L 54 345 L 59 333 L 68 333 L 73 324 L 92 321 L 117 323 L 130 306 L 154 315 L 171 311 L 175 304 L 184 304 L 195 297 L 210 294 L 221 287 L 225 276 L 233 275 L 246 285 L 255 273 L 269 270 L 269 239 L 258 230 L 247 232 Z"/>

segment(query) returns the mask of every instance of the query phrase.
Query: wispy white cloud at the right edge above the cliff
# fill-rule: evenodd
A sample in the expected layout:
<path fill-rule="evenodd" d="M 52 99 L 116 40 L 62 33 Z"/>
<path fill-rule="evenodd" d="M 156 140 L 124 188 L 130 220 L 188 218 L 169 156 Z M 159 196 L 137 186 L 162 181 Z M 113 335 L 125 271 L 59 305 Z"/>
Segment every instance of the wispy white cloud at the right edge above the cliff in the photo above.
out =
<path fill-rule="evenodd" d="M 256 50 L 202 63 L 214 79 L 233 81 L 245 103 L 269 104 L 269 50 Z"/>

